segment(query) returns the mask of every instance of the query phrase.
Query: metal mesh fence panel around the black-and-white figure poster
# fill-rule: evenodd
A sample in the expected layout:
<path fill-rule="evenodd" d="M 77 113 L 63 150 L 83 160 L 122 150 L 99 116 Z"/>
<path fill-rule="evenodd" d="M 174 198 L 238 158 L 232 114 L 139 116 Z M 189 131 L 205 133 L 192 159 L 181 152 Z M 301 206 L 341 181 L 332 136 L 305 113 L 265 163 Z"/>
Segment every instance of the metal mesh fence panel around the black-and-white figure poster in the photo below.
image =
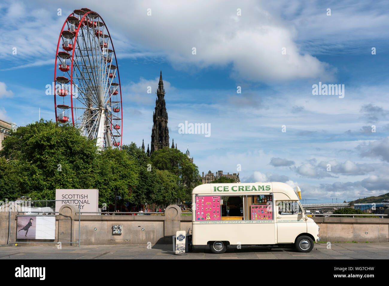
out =
<path fill-rule="evenodd" d="M 67 200 L 69 201 L 69 200 Z M 73 201 L 80 209 L 78 200 Z M 30 245 L 80 245 L 80 217 L 59 213 L 61 200 L 19 201 L 9 204 L 8 243 Z"/>

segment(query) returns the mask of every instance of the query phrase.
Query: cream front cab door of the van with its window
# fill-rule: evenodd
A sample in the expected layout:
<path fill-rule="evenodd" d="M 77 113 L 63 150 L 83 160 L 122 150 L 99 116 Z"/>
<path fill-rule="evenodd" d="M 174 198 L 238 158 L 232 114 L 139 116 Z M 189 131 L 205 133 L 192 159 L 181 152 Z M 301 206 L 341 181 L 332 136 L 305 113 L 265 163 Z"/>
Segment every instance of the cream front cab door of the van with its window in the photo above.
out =
<path fill-rule="evenodd" d="M 277 243 L 294 243 L 300 233 L 307 232 L 307 218 L 297 200 L 276 204 Z"/>

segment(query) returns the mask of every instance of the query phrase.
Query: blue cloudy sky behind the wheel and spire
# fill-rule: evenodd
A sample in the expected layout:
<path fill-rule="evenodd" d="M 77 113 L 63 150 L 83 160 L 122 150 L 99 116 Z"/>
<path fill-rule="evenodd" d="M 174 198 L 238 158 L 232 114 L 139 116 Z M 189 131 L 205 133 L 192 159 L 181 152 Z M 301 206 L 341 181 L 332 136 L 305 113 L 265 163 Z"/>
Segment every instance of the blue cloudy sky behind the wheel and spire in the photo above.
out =
<path fill-rule="evenodd" d="M 387 1 L 5 0 L 1 119 L 55 120 L 46 85 L 62 25 L 83 7 L 112 37 L 123 144 L 150 144 L 162 71 L 170 145 L 189 147 L 200 175 L 298 185 L 304 203 L 389 192 Z M 186 121 L 209 135 L 179 132 Z"/>

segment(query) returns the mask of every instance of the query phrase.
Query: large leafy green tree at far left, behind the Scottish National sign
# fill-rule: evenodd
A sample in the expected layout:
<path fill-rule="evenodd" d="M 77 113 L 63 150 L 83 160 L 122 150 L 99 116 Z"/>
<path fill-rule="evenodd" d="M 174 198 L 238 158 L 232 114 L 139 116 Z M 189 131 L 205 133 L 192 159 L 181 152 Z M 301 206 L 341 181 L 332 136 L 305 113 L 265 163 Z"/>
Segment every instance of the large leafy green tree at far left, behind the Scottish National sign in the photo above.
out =
<path fill-rule="evenodd" d="M 95 142 L 70 124 L 41 119 L 20 126 L 3 141 L 0 151 L 0 156 L 8 160 L 7 168 L 16 176 L 12 179 L 15 189 L 9 194 L 52 200 L 55 189 L 88 188 L 96 151 Z M 7 172 L 0 172 L 1 185 L 7 183 Z"/>

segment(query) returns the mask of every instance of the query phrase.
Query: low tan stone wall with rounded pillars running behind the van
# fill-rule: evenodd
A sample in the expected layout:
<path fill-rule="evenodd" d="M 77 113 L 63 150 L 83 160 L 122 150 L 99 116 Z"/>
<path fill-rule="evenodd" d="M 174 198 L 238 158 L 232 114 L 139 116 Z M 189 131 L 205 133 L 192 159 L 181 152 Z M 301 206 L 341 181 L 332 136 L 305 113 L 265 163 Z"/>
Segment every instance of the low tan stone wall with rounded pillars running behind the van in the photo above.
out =
<path fill-rule="evenodd" d="M 79 215 L 77 211 L 76 207 L 70 205 L 61 207 L 60 214 L 56 216 L 56 237 L 58 233 L 61 233 L 59 228 L 67 228 L 67 223 L 71 223 L 72 241 L 78 240 Z M 11 228 L 16 228 L 16 215 L 17 212 L 11 212 Z M 63 219 L 67 220 L 65 224 L 61 221 Z M 389 219 L 313 219 L 320 226 L 322 242 L 389 242 Z M 0 212 L 0 245 L 7 244 L 8 221 L 9 213 Z M 122 225 L 123 233 L 113 235 L 113 225 Z M 191 234 L 192 216 L 182 216 L 180 208 L 176 205 L 168 206 L 165 216 L 81 215 L 81 245 L 147 244 L 147 242 L 153 245 L 171 244 L 172 235 L 175 235 L 177 230 L 185 230 L 186 233 Z"/>

